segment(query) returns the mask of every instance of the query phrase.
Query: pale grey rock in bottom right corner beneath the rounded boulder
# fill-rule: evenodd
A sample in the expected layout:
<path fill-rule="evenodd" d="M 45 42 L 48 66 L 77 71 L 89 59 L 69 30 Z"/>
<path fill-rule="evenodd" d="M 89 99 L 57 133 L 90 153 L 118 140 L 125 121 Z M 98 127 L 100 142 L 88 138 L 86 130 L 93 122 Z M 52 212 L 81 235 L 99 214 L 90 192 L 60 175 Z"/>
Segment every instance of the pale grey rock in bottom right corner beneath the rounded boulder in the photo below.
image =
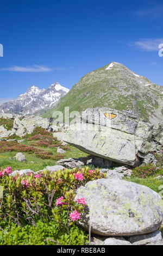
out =
<path fill-rule="evenodd" d="M 147 245 L 148 243 L 157 243 L 162 241 L 162 235 L 159 230 L 156 230 L 153 233 L 145 235 L 134 235 L 130 236 L 129 242 L 132 245 Z"/>

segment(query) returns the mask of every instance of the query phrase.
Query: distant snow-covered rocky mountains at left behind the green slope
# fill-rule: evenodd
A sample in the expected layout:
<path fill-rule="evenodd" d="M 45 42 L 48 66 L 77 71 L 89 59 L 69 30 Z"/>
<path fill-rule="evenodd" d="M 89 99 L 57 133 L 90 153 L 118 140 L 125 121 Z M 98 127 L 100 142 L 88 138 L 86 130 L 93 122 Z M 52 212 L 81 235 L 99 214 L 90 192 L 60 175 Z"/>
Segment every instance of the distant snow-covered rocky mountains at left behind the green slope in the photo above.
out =
<path fill-rule="evenodd" d="M 15 100 L 2 103 L 0 113 L 34 114 L 42 109 L 49 109 L 69 92 L 69 89 L 55 82 L 47 89 L 39 89 L 36 86 L 29 87 L 24 94 Z"/>

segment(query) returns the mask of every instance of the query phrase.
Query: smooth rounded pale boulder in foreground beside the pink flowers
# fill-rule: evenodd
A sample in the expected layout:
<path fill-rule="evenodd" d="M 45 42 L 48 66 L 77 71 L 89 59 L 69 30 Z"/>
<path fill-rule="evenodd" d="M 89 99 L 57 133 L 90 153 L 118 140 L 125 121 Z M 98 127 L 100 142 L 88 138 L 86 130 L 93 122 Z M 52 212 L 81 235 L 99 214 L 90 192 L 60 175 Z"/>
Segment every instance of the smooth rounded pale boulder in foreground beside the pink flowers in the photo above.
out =
<path fill-rule="evenodd" d="M 150 188 L 125 180 L 99 179 L 78 188 L 88 206 L 80 225 L 102 236 L 148 234 L 159 229 L 163 202 Z"/>

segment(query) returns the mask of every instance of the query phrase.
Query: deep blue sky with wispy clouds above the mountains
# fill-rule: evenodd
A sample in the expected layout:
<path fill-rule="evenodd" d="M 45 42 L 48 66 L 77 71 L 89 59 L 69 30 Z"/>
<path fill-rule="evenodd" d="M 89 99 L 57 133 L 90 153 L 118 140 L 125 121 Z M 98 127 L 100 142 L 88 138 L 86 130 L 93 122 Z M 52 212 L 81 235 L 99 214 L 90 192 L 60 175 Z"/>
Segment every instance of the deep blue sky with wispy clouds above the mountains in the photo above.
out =
<path fill-rule="evenodd" d="M 71 88 L 120 62 L 163 85 L 163 3 L 137 0 L 1 0 L 0 102 L 29 86 Z"/>

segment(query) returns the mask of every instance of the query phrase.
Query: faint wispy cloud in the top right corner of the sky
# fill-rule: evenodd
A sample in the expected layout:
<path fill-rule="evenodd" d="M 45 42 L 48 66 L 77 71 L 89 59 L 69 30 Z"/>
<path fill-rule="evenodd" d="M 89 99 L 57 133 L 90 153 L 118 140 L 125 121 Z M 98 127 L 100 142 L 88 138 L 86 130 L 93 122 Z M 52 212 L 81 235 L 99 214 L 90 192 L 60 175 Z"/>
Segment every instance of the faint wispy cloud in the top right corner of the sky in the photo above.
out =
<path fill-rule="evenodd" d="M 153 8 L 138 10 L 135 12 L 139 17 L 153 17 L 154 19 L 162 16 L 163 14 L 163 5 L 156 5 Z"/>

